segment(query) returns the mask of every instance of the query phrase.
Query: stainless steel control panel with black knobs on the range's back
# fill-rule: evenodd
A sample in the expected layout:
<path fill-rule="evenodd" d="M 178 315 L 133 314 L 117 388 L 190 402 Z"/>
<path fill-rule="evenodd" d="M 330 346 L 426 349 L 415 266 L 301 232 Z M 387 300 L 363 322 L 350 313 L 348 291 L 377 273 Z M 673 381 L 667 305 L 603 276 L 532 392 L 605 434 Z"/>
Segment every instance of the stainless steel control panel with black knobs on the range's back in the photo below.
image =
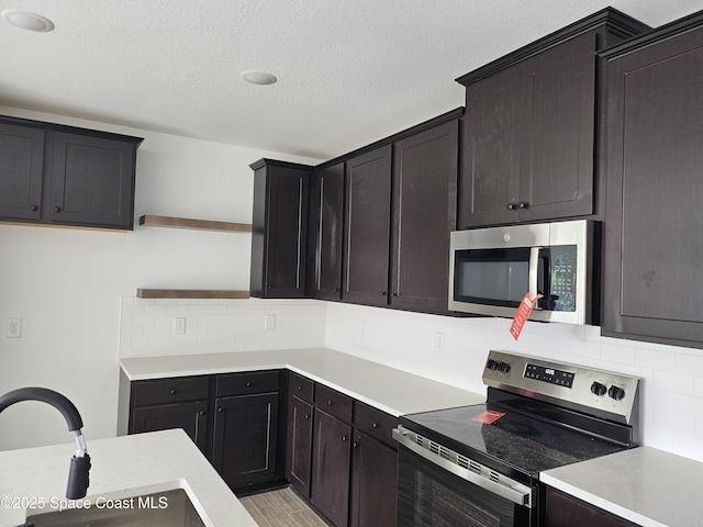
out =
<path fill-rule="evenodd" d="M 617 423 L 629 424 L 638 404 L 636 377 L 507 351 L 489 351 L 483 383 Z"/>

